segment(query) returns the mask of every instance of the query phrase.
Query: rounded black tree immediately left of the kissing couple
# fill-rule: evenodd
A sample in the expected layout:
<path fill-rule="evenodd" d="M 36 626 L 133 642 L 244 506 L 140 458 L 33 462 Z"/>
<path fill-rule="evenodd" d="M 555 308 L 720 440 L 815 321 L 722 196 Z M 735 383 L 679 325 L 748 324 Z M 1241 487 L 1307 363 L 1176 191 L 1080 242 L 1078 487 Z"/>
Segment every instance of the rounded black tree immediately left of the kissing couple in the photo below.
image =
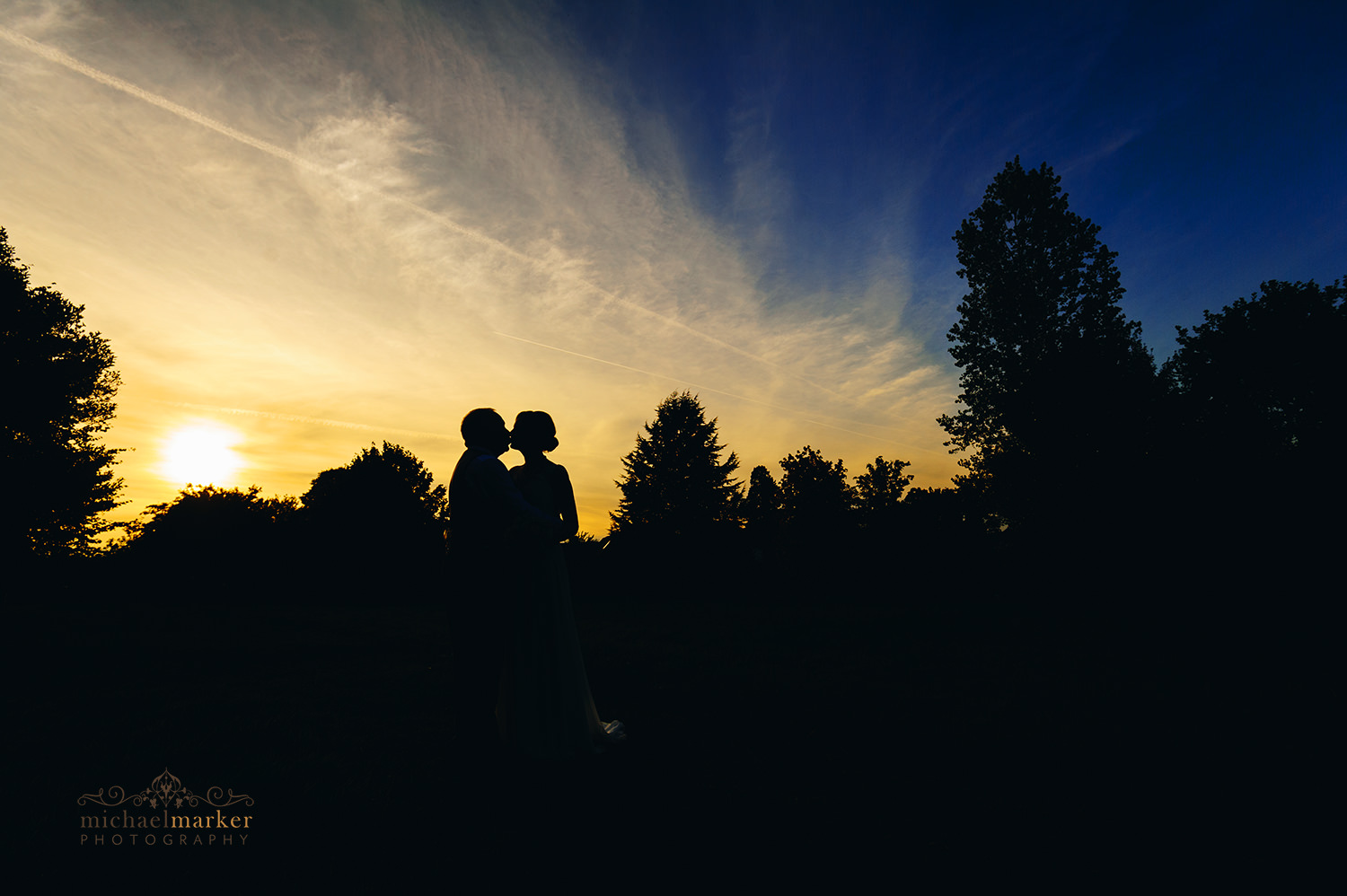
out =
<path fill-rule="evenodd" d="M 407 449 L 370 445 L 323 470 L 300 497 L 314 548 L 341 567 L 424 561 L 445 550 L 449 496 Z"/>

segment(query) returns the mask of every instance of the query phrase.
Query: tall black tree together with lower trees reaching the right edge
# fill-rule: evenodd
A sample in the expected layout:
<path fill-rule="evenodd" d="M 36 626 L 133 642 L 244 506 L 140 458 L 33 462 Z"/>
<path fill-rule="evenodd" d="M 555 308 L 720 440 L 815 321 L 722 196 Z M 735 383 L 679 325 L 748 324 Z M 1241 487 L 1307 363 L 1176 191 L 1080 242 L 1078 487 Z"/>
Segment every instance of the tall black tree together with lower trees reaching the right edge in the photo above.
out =
<path fill-rule="evenodd" d="M 954 234 L 960 407 L 940 424 L 958 490 L 993 528 L 1040 539 L 1323 530 L 1319 501 L 1343 496 L 1343 282 L 1269 280 L 1177 327 L 1157 369 L 1099 229 L 1051 167 L 1016 158 Z"/>

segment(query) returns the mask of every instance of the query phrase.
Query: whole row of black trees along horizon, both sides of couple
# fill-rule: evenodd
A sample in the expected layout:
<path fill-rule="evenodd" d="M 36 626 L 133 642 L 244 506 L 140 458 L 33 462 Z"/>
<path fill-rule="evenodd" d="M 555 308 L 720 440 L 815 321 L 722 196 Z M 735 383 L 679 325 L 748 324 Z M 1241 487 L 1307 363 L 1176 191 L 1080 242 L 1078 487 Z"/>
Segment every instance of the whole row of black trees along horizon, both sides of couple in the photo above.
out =
<path fill-rule="evenodd" d="M 1070 209 L 1051 167 L 1016 158 L 954 234 L 968 291 L 948 331 L 960 393 L 939 419 L 964 469 L 951 486 L 911 488 L 911 465 L 884 457 L 849 481 L 842 459 L 808 445 L 781 458 L 779 477 L 754 466 L 740 482 L 717 420 L 675 392 L 622 458 L 609 540 L 737 539 L 757 555 L 857 538 L 1228 540 L 1299 531 L 1315 507 L 1340 505 L 1329 451 L 1347 404 L 1343 282 L 1269 280 L 1177 327 L 1177 350 L 1157 366 L 1121 310 L 1117 253 L 1099 230 Z M 82 306 L 30 284 L 3 229 L 0 288 L 18 384 L 5 461 L 24 472 L 11 477 L 7 550 L 97 554 L 121 488 L 120 449 L 102 443 L 119 384 L 110 346 L 85 329 Z M 298 499 L 189 486 L 127 525 L 114 552 L 158 562 L 209 548 L 283 565 L 298 547 L 314 569 L 415 566 L 443 552 L 451 523 L 445 488 L 384 442 Z"/>

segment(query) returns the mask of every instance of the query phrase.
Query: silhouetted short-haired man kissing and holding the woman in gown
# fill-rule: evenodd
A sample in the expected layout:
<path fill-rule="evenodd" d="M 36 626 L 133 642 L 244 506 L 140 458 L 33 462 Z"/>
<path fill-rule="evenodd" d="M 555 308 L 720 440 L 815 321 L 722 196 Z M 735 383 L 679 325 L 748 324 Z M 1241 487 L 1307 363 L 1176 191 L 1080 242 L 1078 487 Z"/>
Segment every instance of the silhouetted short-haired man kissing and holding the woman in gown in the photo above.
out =
<path fill-rule="evenodd" d="M 459 745 L 489 755 L 500 744 L 496 699 L 505 632 L 517 600 L 521 539 L 568 534 L 560 519 L 524 500 L 500 455 L 511 433 L 494 410 L 469 411 L 461 427 L 467 450 L 449 480 L 450 574 L 458 593 L 454 636 L 454 710 Z"/>

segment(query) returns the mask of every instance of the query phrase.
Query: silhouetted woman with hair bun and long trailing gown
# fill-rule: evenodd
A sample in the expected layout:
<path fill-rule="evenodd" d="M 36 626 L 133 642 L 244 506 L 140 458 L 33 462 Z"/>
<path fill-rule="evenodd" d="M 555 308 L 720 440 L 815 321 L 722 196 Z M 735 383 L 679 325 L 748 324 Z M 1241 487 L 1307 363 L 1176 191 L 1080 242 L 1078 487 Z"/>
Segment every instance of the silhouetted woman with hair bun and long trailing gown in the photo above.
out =
<path fill-rule="evenodd" d="M 556 426 L 543 411 L 515 418 L 511 446 L 524 455 L 511 477 L 529 504 L 579 530 L 575 492 L 566 468 L 546 457 L 558 445 Z M 562 546 L 525 535 L 513 574 L 520 577 L 509 621 L 505 667 L 496 719 L 505 746 L 521 756 L 560 759 L 602 752 L 625 740 L 621 722 L 602 722 L 594 710 L 581 655 L 571 586 Z"/>

